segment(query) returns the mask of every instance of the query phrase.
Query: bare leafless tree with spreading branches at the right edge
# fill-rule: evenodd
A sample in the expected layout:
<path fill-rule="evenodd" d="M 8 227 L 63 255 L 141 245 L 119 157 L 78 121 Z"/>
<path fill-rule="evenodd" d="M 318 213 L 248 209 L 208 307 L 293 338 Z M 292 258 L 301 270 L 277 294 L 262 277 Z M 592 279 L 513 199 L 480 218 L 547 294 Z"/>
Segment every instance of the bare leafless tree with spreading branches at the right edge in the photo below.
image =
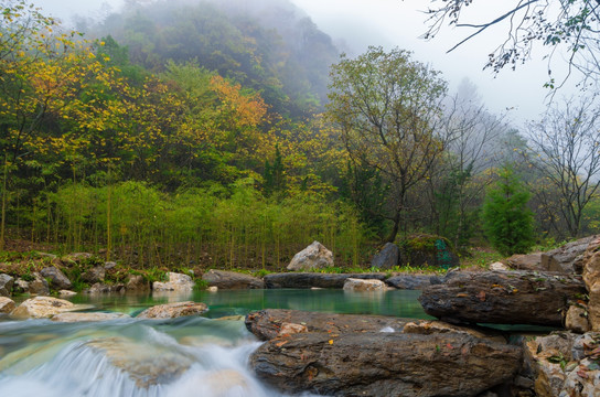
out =
<path fill-rule="evenodd" d="M 538 194 L 558 201 L 561 224 L 556 224 L 561 235 L 578 237 L 583 211 L 598 191 L 600 173 L 600 111 L 596 98 L 580 103 L 566 100 L 546 112 L 539 122 L 529 125 L 528 162 L 542 175 Z M 543 202 L 547 202 L 543 200 Z M 554 214 L 555 216 L 557 214 Z"/>

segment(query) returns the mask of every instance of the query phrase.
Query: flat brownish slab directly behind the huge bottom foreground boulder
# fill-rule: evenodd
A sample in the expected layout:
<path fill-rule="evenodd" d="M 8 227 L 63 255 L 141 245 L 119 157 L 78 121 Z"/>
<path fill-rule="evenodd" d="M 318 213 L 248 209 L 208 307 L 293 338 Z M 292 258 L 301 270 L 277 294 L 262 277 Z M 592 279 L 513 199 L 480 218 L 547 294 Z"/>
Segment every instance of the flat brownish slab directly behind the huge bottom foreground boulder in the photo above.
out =
<path fill-rule="evenodd" d="M 307 326 L 308 332 L 400 332 L 413 320 L 384 315 L 333 314 L 301 310 L 265 309 L 246 315 L 246 328 L 261 341 L 277 337 L 285 324 Z"/>

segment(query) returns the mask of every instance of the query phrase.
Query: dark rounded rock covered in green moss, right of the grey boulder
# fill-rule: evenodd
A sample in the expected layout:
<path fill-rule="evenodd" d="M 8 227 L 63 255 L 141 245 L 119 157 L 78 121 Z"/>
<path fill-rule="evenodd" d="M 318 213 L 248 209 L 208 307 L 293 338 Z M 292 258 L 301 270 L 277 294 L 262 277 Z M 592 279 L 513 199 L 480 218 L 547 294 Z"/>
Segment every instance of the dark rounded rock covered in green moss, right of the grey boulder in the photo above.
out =
<path fill-rule="evenodd" d="M 457 251 L 446 237 L 416 234 L 399 244 L 401 266 L 450 269 L 460 265 Z"/>

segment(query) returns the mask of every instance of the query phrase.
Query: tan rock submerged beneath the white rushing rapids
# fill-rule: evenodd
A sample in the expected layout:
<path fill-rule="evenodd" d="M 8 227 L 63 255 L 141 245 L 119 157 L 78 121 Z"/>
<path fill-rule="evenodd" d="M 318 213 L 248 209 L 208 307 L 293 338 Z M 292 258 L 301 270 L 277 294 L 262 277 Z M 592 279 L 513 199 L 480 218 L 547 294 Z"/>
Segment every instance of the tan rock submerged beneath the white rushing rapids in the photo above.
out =
<path fill-rule="evenodd" d="M 90 347 L 121 369 L 139 388 L 170 384 L 183 375 L 194 358 L 175 351 L 170 345 L 157 346 L 125 337 L 106 337 L 87 342 Z"/>

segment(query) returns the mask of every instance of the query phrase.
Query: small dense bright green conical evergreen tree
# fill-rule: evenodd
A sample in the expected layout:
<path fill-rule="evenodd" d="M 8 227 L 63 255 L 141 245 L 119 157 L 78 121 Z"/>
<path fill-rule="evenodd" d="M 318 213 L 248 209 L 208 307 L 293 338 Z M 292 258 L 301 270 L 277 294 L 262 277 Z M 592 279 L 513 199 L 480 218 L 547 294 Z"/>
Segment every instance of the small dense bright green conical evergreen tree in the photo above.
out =
<path fill-rule="evenodd" d="M 488 191 L 483 225 L 492 246 L 502 255 L 525 254 L 534 243 L 529 193 L 511 167 L 500 170 L 500 179 Z"/>

